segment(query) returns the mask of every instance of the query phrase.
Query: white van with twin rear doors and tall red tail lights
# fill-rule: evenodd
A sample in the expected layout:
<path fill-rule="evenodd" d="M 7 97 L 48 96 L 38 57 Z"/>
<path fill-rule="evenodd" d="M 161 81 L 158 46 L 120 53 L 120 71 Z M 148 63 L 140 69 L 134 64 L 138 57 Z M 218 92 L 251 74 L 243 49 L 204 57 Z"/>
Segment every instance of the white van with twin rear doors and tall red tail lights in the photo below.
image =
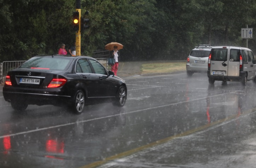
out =
<path fill-rule="evenodd" d="M 207 75 L 209 83 L 215 81 L 240 81 L 243 85 L 247 81 L 255 82 L 256 64 L 252 51 L 248 48 L 235 46 L 212 47 Z"/>

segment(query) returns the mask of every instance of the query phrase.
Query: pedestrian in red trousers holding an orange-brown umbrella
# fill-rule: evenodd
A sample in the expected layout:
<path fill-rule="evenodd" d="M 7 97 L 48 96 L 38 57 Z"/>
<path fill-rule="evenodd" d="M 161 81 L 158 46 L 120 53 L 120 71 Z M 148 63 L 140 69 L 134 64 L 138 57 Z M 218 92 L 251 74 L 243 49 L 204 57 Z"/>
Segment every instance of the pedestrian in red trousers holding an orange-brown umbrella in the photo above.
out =
<path fill-rule="evenodd" d="M 123 45 L 116 42 L 112 42 L 105 45 L 105 49 L 110 50 L 110 57 L 115 59 L 115 63 L 111 65 L 111 71 L 114 72 L 115 76 L 117 74 L 118 65 L 119 65 L 118 59 L 120 59 L 120 53 L 118 51 L 118 48 L 123 49 Z"/>

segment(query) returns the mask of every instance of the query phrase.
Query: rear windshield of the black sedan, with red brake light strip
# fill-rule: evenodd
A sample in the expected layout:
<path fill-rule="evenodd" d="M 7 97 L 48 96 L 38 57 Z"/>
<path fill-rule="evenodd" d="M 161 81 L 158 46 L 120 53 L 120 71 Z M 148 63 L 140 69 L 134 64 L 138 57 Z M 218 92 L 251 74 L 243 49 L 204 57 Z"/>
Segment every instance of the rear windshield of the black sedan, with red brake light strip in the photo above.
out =
<path fill-rule="evenodd" d="M 64 70 L 72 59 L 60 57 L 33 57 L 22 64 L 20 68 Z"/>

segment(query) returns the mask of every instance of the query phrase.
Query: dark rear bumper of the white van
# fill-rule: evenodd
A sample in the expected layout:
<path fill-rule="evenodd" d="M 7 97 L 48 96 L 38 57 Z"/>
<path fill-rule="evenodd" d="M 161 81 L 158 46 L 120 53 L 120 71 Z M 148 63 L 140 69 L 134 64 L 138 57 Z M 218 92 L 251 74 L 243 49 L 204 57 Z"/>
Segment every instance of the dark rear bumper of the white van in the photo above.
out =
<path fill-rule="evenodd" d="M 243 76 L 246 74 L 246 71 L 240 71 L 239 76 L 222 76 L 222 75 L 211 75 L 210 70 L 207 70 L 207 76 L 215 81 L 234 81 L 240 82 L 243 79 Z"/>

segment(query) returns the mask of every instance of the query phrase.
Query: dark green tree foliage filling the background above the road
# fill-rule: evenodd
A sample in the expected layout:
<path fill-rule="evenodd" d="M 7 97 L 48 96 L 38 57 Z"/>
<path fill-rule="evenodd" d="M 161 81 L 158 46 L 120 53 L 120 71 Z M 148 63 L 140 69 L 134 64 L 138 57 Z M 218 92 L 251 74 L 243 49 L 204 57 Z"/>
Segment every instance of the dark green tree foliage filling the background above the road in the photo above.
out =
<path fill-rule="evenodd" d="M 84 15 L 88 10 L 89 14 Z M 0 0 L 0 62 L 56 54 L 75 42 L 75 0 Z M 81 54 L 110 42 L 124 45 L 121 60 L 184 60 L 195 45 L 246 46 L 241 28 L 256 26 L 255 0 L 81 0 Z M 256 42 L 249 39 L 256 51 Z"/>

